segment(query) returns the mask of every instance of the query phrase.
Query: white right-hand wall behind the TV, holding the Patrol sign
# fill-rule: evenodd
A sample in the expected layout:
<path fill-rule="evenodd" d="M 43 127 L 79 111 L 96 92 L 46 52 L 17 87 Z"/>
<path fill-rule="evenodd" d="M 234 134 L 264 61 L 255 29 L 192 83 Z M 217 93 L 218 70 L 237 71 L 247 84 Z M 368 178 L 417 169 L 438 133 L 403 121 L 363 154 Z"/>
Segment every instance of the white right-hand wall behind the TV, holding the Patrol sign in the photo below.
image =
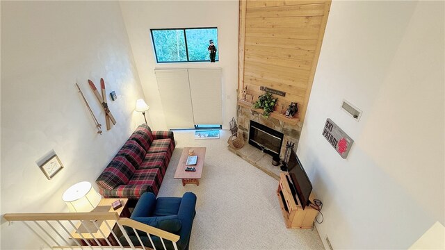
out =
<path fill-rule="evenodd" d="M 443 1 L 332 2 L 298 155 L 334 249 L 407 249 L 444 224 L 444 17 Z M 346 160 L 328 117 L 355 140 Z"/>

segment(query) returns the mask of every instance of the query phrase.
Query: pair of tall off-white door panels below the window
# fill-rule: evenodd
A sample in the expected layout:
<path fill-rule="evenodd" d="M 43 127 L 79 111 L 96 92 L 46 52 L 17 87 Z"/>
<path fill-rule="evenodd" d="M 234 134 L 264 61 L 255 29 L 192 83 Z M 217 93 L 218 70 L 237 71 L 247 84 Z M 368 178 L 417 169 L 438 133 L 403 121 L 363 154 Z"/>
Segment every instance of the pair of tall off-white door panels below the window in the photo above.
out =
<path fill-rule="evenodd" d="M 168 128 L 223 124 L 221 69 L 155 69 Z"/>

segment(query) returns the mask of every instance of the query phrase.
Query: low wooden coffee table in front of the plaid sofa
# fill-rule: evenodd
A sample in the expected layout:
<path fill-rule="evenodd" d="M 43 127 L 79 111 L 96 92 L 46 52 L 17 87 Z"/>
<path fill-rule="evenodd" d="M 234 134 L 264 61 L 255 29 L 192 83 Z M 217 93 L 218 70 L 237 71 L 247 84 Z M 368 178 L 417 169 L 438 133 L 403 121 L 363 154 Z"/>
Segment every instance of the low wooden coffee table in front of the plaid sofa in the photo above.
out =
<path fill-rule="evenodd" d="M 193 149 L 195 153 L 193 156 L 197 156 L 197 163 L 194 166 L 186 166 L 188 150 Z M 179 159 L 178 167 L 176 168 L 175 178 L 182 180 L 182 185 L 196 184 L 200 185 L 200 178 L 202 174 L 202 168 L 204 167 L 204 158 L 206 156 L 205 147 L 186 147 L 182 150 L 181 159 Z M 195 167 L 195 172 L 187 172 L 186 167 Z"/>

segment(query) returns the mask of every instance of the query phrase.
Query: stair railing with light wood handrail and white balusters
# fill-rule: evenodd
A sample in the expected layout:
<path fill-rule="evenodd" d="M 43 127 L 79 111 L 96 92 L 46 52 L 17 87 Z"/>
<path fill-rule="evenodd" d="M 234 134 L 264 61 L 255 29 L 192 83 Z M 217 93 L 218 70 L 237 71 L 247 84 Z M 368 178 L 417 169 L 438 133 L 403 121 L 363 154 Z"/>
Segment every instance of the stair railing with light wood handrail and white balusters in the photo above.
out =
<path fill-rule="evenodd" d="M 3 217 L 8 222 L 23 222 L 49 249 L 156 250 L 152 238 L 152 236 L 156 236 L 161 240 L 164 250 L 168 250 L 164 240 L 172 242 L 173 249 L 177 250 L 177 241 L 179 240 L 179 235 L 136 222 L 133 219 L 120 218 L 118 213 L 113 212 L 8 213 Z M 99 224 L 99 222 L 101 223 Z M 124 226 L 132 228 L 138 243 L 131 241 Z M 138 231 L 147 235 L 152 248 L 144 247 L 141 237 L 145 237 L 145 235 L 140 235 Z M 124 242 L 121 242 L 122 236 L 125 239 Z"/>

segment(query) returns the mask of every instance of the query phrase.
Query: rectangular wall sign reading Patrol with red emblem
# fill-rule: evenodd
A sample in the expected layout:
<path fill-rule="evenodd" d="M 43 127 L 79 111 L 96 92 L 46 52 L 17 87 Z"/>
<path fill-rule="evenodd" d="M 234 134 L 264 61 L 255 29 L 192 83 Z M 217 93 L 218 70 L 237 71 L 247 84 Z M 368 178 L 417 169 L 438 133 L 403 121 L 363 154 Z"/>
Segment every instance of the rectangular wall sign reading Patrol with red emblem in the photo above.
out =
<path fill-rule="evenodd" d="M 340 154 L 341 158 L 346 159 L 350 147 L 353 146 L 354 140 L 351 139 L 344 131 L 337 126 L 331 119 L 327 118 L 323 133 L 321 133 Z"/>

